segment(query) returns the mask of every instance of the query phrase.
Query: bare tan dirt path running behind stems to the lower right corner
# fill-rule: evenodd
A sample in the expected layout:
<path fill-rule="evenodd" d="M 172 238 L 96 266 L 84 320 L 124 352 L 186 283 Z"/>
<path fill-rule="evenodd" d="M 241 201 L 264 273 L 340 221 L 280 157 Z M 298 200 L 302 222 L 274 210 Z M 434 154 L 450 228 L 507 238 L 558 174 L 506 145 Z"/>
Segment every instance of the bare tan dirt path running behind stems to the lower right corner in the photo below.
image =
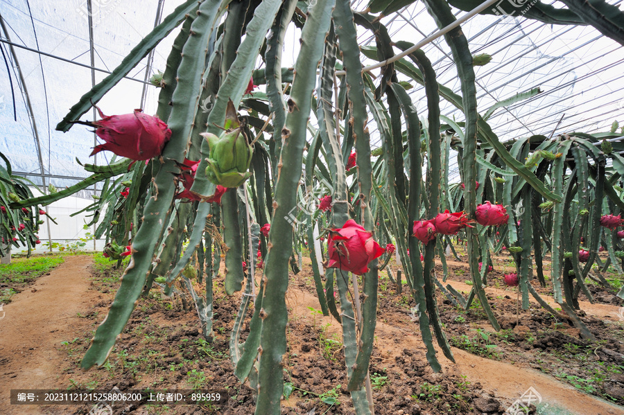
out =
<path fill-rule="evenodd" d="M 467 284 L 464 285 L 468 289 L 471 288 Z M 453 281 L 453 286 L 455 287 L 455 281 Z M 331 324 L 329 332 L 340 333 L 340 325 L 333 317 L 319 317 L 318 314 L 311 312 L 310 308 L 320 308 L 318 299 L 313 294 L 297 288 L 289 288 L 286 299 L 293 315 L 304 319 L 316 319 L 319 325 Z M 401 355 L 404 348 L 422 355 L 424 359 L 426 348 L 416 324 L 410 327 L 398 325 L 395 321 L 395 324 L 390 325 L 378 319 L 375 333 L 375 346 L 383 351 L 382 357 L 377 357 L 377 359 L 394 361 L 396 356 Z M 397 339 L 400 341 L 397 342 Z M 566 414 L 622 414 L 620 407 L 582 394 L 577 389 L 533 369 L 485 359 L 455 347 L 452 351 L 456 364 L 447 360 L 440 349 L 437 349 L 437 357 L 442 364 L 442 370 L 466 376 L 466 379 L 472 383 L 479 382 L 484 389 L 493 391 L 503 402 L 511 404 L 532 387 L 541 395 L 543 402 L 549 404 L 549 407 L 564 408 Z"/>

